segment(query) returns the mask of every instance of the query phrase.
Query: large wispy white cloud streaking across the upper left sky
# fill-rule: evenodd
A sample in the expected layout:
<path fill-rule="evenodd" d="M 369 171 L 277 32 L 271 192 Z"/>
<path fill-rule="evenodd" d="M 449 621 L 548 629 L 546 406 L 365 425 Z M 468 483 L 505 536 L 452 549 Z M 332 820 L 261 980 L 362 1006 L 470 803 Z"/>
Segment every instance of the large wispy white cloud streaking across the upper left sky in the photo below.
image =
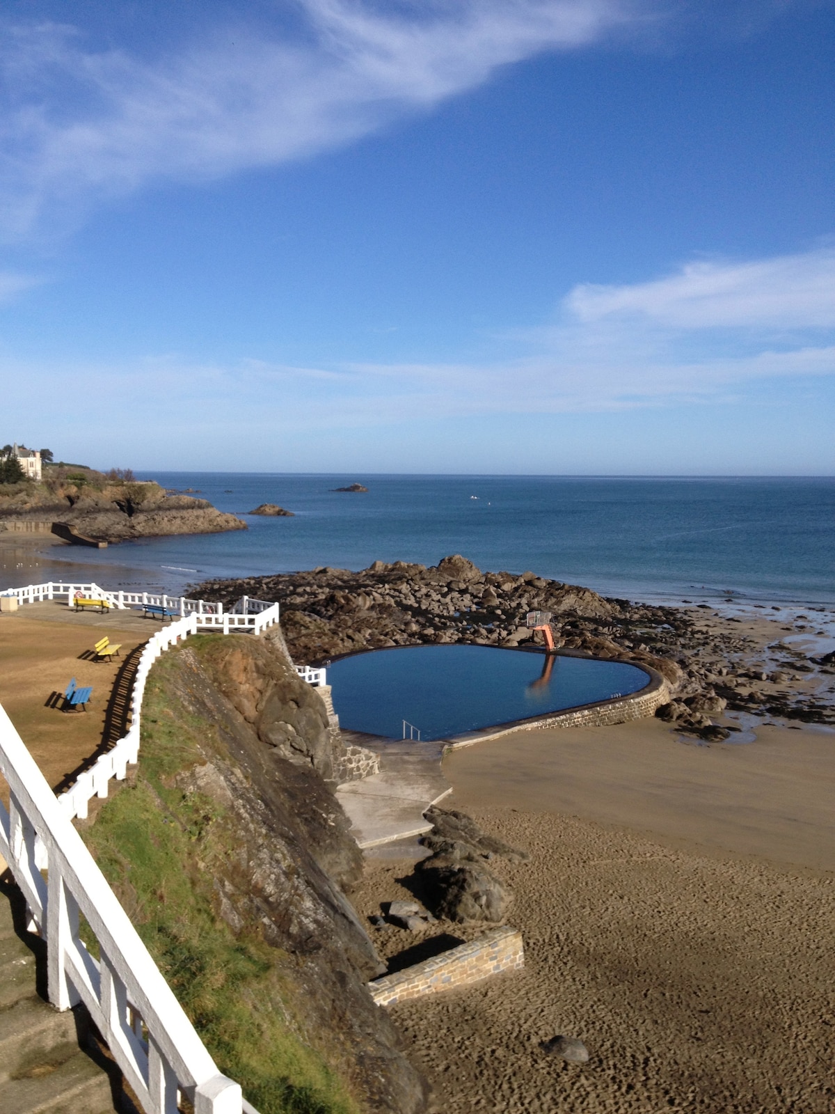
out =
<path fill-rule="evenodd" d="M 56 203 L 297 159 L 537 52 L 597 41 L 657 0 L 298 0 L 295 37 L 215 27 L 154 61 L 68 26 L 6 27 L 0 199 L 23 232 Z"/>

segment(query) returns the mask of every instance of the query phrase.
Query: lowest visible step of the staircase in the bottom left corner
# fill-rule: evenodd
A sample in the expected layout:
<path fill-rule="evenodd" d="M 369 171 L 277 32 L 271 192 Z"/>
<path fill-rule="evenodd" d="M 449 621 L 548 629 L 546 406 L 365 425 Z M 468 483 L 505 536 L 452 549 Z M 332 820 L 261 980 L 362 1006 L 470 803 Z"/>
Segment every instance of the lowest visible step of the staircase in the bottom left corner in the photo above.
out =
<path fill-rule="evenodd" d="M 0 1083 L 4 1114 L 112 1114 L 110 1081 L 85 1053 Z"/>

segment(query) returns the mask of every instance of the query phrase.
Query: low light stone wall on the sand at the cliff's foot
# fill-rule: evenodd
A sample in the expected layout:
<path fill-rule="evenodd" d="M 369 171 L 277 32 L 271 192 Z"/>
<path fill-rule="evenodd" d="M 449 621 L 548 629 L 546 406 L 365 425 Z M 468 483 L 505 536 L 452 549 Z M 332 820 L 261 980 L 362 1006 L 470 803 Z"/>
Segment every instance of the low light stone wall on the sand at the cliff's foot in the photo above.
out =
<path fill-rule="evenodd" d="M 383 975 L 369 983 L 369 989 L 377 1006 L 393 1006 L 396 1001 L 469 986 L 489 975 L 523 966 L 522 934 L 515 928 L 494 928 L 478 940 L 461 944 L 414 967 Z"/>

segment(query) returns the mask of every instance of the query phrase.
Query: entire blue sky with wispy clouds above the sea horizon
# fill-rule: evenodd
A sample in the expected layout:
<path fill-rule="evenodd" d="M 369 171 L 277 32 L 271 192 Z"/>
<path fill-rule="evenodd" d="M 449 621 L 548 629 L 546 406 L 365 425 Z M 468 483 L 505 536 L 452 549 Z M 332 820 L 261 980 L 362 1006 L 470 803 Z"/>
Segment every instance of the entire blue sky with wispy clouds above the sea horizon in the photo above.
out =
<path fill-rule="evenodd" d="M 2 439 L 832 475 L 834 46 L 823 0 L 7 2 Z"/>

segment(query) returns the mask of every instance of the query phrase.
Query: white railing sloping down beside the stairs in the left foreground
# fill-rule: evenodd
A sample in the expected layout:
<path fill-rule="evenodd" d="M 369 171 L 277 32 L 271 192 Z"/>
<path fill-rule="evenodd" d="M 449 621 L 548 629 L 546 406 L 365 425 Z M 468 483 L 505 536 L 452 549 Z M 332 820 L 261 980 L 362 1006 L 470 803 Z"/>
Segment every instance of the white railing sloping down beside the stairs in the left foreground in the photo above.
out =
<path fill-rule="evenodd" d="M 0 772 L 9 783 L 0 853 L 46 938 L 49 1000 L 58 1009 L 85 1004 L 147 1114 L 173 1114 L 180 1092 L 195 1114 L 242 1114 L 239 1084 L 218 1072 L 2 705 Z M 98 960 L 79 936 L 79 915 Z"/>

